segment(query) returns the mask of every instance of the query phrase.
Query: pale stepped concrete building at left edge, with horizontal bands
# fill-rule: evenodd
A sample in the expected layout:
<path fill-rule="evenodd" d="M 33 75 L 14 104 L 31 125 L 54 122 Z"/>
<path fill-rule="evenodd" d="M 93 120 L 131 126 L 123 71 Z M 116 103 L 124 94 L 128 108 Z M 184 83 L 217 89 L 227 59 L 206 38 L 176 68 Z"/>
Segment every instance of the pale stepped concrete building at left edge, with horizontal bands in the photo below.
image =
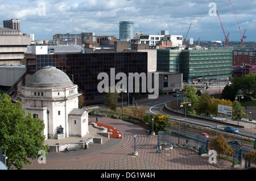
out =
<path fill-rule="evenodd" d="M 31 44 L 30 36 L 18 30 L 0 27 L 0 65 L 22 65 L 24 52 Z"/>

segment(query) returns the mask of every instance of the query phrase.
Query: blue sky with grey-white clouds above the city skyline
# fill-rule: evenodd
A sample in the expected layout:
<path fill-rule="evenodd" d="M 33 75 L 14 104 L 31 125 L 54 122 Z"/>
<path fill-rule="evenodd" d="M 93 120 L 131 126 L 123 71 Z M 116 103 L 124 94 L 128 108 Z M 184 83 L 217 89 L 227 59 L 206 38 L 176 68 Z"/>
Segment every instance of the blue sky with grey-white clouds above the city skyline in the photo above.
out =
<path fill-rule="evenodd" d="M 256 41 L 256 1 L 232 0 L 242 34 Z M 187 39 L 224 41 L 216 11 L 226 35 L 240 41 L 241 33 L 229 0 L 0 0 L 0 26 L 3 20 L 20 19 L 22 33 L 34 33 L 35 40 L 52 40 L 56 33 L 95 32 L 119 37 L 119 22 L 134 21 L 134 31 L 156 34 L 168 30 Z"/>

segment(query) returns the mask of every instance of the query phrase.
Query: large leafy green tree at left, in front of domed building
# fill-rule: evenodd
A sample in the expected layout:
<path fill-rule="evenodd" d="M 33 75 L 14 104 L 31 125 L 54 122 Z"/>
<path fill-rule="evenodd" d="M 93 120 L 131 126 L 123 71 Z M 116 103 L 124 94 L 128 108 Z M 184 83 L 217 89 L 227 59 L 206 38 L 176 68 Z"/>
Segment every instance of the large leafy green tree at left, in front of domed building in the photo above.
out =
<path fill-rule="evenodd" d="M 48 154 L 48 145 L 43 145 L 44 122 L 38 117 L 26 116 L 22 104 L 12 103 L 7 94 L 0 94 L 0 147 L 6 151 L 6 165 L 10 169 L 22 169 L 23 163 L 32 164 L 28 158 L 39 158 L 40 150 Z"/>

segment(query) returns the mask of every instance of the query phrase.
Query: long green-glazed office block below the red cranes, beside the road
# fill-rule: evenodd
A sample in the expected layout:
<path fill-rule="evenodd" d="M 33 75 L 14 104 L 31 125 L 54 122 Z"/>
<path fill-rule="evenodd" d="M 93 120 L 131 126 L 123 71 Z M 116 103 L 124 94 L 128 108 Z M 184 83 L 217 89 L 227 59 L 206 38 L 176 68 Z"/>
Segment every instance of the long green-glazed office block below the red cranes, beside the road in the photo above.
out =
<path fill-rule="evenodd" d="M 188 79 L 232 77 L 231 49 L 158 50 L 157 70 L 183 73 Z"/>

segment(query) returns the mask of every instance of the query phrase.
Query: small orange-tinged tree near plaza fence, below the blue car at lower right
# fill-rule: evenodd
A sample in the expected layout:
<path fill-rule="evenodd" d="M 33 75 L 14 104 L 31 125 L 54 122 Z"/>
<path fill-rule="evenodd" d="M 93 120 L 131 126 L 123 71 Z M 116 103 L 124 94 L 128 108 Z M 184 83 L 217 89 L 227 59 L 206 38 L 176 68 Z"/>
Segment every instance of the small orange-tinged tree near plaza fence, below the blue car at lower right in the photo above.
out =
<path fill-rule="evenodd" d="M 228 157 L 233 156 L 234 150 L 228 145 L 224 136 L 213 137 L 210 140 L 208 148 L 215 150 L 218 153 L 218 163 L 220 163 L 220 155 L 226 155 Z"/>

